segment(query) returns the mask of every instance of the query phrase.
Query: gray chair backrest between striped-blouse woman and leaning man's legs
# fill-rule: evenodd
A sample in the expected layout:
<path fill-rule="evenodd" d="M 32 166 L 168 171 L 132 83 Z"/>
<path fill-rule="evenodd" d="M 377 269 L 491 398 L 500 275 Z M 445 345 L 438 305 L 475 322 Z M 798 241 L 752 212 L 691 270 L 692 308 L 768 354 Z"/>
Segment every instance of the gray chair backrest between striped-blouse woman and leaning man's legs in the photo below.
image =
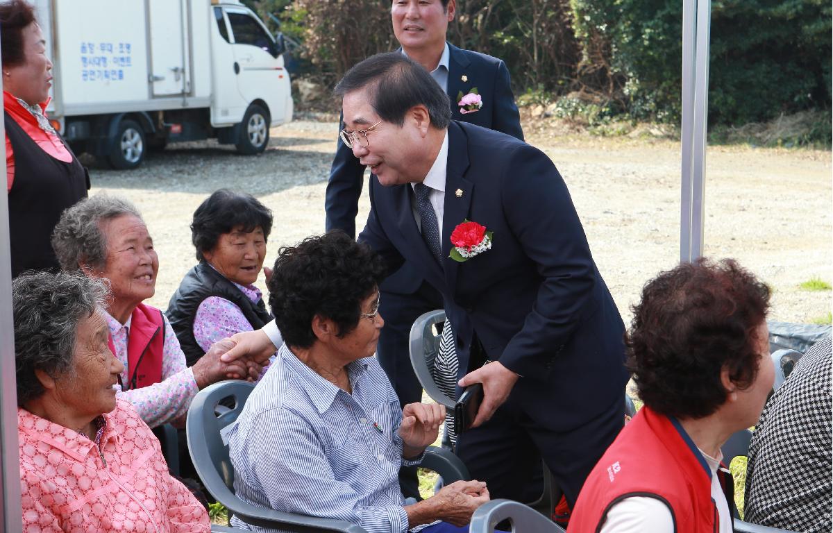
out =
<path fill-rule="evenodd" d="M 421 383 L 422 388 L 425 389 L 426 394 L 441 406 L 454 409 L 456 401 L 446 396 L 440 390 L 440 387 L 436 386 L 434 376 L 431 374 L 436 354 L 440 351 L 441 328 L 437 325 L 445 320 L 446 311 L 441 309 L 429 311 L 419 316 L 414 321 L 414 325 L 411 326 L 408 352 L 411 356 L 411 366 L 413 366 L 416 378 Z"/>

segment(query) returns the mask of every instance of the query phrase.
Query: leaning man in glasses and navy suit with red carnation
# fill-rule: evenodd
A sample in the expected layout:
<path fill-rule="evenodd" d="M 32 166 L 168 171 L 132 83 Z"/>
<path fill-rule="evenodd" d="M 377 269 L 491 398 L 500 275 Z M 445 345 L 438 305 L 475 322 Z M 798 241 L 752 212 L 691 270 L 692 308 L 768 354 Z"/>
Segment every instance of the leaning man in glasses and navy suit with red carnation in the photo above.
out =
<path fill-rule="evenodd" d="M 373 174 L 359 240 L 440 291 L 459 386 L 483 385 L 458 454 L 492 497 L 518 499 L 540 451 L 573 504 L 621 429 L 628 376 L 621 316 L 556 167 L 514 137 L 451 121 L 445 92 L 401 53 L 359 63 L 336 90 L 342 137 Z M 485 227 L 480 246 L 452 245 L 464 221 Z"/>

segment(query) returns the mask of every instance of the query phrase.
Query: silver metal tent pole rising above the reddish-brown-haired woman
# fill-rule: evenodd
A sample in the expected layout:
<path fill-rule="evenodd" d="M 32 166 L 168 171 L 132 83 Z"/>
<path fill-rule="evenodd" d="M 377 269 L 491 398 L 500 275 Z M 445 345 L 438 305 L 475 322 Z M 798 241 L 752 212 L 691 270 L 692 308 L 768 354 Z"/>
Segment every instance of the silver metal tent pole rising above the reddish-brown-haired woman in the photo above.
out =
<path fill-rule="evenodd" d="M 684 0 L 680 260 L 703 255 L 711 0 Z"/>

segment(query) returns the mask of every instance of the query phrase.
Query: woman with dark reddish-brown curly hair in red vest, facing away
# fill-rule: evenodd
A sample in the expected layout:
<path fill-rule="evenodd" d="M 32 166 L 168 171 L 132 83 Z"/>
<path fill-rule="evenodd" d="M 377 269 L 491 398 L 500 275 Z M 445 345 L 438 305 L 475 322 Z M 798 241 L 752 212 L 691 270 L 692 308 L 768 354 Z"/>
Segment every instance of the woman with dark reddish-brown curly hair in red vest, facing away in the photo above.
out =
<path fill-rule="evenodd" d="M 721 446 L 756 423 L 772 389 L 769 299 L 732 260 L 648 282 L 626 335 L 645 406 L 582 486 L 569 533 L 731 533 Z"/>

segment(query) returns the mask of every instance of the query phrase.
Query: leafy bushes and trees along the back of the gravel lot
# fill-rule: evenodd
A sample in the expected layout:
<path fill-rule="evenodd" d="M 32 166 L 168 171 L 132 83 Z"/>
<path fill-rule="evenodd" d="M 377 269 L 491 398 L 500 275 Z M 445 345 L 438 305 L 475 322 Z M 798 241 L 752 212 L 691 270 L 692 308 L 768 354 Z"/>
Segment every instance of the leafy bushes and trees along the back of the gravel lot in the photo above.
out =
<path fill-rule="evenodd" d="M 387 0 L 244 0 L 301 44 L 327 87 L 397 47 Z M 682 0 L 458 0 L 449 41 L 501 57 L 515 92 L 569 97 L 605 116 L 678 123 Z M 829 0 L 711 3 L 710 125 L 831 110 Z M 814 135 L 830 137 L 830 127 Z"/>

